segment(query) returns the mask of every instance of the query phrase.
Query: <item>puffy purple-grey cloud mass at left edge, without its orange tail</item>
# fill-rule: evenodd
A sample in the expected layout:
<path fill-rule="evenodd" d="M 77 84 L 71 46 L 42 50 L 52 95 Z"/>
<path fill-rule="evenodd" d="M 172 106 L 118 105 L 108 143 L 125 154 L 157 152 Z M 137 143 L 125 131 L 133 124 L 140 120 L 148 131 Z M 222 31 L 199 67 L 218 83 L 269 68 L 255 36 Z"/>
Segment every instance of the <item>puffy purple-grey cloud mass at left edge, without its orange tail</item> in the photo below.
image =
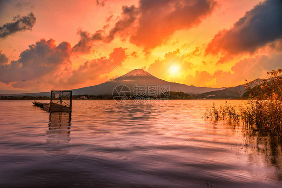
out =
<path fill-rule="evenodd" d="M 49 73 L 62 73 L 70 64 L 69 57 L 71 46 L 68 42 L 62 42 L 58 46 L 55 41 L 41 39 L 35 45 L 29 45 L 29 49 L 23 51 L 17 61 L 0 66 L 0 81 L 6 84 L 37 80 Z M 52 78 L 50 78 L 52 79 Z"/>

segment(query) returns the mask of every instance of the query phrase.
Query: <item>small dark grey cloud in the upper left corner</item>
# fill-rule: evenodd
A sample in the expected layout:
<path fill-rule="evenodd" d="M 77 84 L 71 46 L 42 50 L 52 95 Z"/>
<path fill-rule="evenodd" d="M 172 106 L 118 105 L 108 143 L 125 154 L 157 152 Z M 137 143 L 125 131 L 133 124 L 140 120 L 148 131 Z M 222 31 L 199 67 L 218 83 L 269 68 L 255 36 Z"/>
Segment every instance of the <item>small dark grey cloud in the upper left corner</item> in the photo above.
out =
<path fill-rule="evenodd" d="M 21 17 L 20 15 L 13 18 L 13 22 L 6 23 L 0 27 L 0 38 L 5 38 L 18 31 L 31 30 L 35 24 L 36 18 L 33 13 Z"/>

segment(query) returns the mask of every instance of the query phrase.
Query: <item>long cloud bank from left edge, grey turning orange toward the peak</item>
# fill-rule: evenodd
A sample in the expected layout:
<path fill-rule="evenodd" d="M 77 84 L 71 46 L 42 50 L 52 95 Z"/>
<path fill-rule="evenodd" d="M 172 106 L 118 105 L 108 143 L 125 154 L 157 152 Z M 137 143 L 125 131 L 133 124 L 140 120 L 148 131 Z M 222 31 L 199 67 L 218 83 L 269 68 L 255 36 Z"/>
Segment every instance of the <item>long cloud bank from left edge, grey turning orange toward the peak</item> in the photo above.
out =
<path fill-rule="evenodd" d="M 114 67 L 121 67 L 127 58 L 125 48 L 114 48 L 108 59 L 93 59 L 72 69 L 72 52 L 68 42 L 55 44 L 55 40 L 41 39 L 20 54 L 17 61 L 8 63 L 0 53 L 0 82 L 17 88 L 73 88 L 87 81 L 104 82 Z"/>

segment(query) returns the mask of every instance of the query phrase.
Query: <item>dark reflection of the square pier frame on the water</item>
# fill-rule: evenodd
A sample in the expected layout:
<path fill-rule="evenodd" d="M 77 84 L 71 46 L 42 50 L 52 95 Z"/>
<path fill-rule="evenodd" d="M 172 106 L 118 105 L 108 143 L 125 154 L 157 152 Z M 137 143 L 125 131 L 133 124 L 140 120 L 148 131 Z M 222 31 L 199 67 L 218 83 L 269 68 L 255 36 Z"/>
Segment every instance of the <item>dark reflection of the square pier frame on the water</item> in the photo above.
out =
<path fill-rule="evenodd" d="M 69 151 L 71 112 L 53 112 L 49 115 L 46 142 L 53 154 L 65 154 Z"/>

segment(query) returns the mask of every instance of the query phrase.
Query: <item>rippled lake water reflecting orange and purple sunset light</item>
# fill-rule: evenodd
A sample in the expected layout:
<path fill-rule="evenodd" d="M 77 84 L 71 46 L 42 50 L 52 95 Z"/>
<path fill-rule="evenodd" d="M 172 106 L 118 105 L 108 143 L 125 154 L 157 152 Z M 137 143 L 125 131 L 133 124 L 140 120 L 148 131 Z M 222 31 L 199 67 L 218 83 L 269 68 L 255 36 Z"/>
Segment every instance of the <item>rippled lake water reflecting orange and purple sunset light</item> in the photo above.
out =
<path fill-rule="evenodd" d="M 213 102 L 74 100 L 50 115 L 2 100 L 0 187 L 281 187 L 280 145 L 203 118 Z"/>

